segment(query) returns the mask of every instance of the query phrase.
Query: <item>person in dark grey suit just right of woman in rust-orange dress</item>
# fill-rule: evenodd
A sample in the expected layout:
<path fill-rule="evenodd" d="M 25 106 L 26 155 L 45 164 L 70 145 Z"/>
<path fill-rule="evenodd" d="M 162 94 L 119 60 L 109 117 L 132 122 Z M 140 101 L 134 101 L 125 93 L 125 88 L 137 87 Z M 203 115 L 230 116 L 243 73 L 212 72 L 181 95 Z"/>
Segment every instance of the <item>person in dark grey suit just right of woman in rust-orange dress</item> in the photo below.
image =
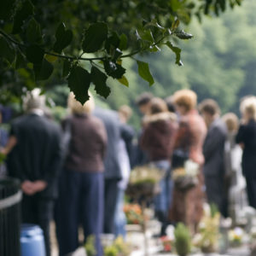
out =
<path fill-rule="evenodd" d="M 204 176 L 209 204 L 214 203 L 226 218 L 228 201 L 225 193 L 224 143 L 227 127 L 220 119 L 218 103 L 207 99 L 201 102 L 200 111 L 207 124 L 207 137 L 203 145 Z"/>

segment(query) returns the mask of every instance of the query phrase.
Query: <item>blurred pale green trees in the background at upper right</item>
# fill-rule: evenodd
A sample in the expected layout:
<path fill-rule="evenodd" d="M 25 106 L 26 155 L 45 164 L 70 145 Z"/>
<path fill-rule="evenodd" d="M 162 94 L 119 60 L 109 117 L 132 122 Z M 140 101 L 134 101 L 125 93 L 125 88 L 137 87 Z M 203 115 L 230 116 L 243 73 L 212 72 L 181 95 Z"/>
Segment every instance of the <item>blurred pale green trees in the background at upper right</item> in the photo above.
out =
<path fill-rule="evenodd" d="M 218 18 L 205 18 L 202 24 L 194 20 L 189 31 L 195 35 L 191 41 L 181 44 L 183 67 L 172 65 L 172 55 L 162 53 L 144 55 L 154 76 L 155 85 L 148 85 L 137 76 L 132 61 L 123 65 L 129 70 L 130 88 L 110 82 L 112 94 L 108 106 L 118 109 L 122 104 L 134 110 L 131 124 L 139 128 L 140 119 L 135 105 L 136 97 L 147 90 L 165 98 L 175 90 L 191 88 L 198 95 L 198 102 L 212 98 L 222 112 L 239 113 L 242 96 L 256 95 L 256 2 L 247 0 L 241 8 L 226 11 Z"/>

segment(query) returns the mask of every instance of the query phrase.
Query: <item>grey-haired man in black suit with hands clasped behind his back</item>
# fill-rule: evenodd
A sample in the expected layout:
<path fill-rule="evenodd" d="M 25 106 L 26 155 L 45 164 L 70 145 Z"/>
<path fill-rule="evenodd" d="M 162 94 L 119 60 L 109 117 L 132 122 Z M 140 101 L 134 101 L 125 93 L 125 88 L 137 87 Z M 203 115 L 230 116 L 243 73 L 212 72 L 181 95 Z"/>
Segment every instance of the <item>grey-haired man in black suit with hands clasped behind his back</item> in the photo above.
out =
<path fill-rule="evenodd" d="M 22 222 L 38 224 L 42 228 L 49 256 L 49 221 L 57 196 L 61 131 L 44 117 L 44 96 L 39 93 L 39 90 L 33 90 L 26 96 L 26 114 L 11 125 L 10 139 L 15 138 L 15 145 L 9 154 L 8 167 L 9 176 L 20 179 Z"/>

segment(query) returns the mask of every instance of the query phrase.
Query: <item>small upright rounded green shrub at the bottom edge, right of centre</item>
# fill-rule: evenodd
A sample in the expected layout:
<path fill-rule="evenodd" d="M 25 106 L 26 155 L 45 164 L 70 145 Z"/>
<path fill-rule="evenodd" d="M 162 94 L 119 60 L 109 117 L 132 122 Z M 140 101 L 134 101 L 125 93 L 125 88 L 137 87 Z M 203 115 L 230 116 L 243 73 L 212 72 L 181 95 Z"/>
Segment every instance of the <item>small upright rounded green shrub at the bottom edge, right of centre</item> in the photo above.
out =
<path fill-rule="evenodd" d="M 184 224 L 179 223 L 174 231 L 174 236 L 177 254 L 180 256 L 188 255 L 191 250 L 191 236 L 189 229 Z"/>

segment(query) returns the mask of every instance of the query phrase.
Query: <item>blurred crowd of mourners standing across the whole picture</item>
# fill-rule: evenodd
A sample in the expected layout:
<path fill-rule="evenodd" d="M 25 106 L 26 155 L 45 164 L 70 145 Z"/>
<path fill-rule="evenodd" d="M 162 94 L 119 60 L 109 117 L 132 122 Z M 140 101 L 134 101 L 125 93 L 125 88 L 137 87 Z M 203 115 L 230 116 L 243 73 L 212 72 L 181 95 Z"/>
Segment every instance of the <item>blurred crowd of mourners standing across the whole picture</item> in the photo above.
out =
<path fill-rule="evenodd" d="M 163 173 L 153 201 L 159 236 L 177 222 L 195 232 L 206 201 L 224 218 L 237 220 L 245 188 L 256 208 L 255 96 L 241 100 L 241 121 L 235 113 L 221 116 L 212 99 L 198 104 L 193 90 L 177 90 L 166 99 L 145 92 L 136 103 L 143 115 L 138 134 L 128 124 L 129 106 L 98 108 L 91 95 L 82 105 L 73 93 L 67 118 L 56 125 L 44 111 L 45 97 L 33 90 L 9 135 L 0 130 L 1 153 L 7 155 L 0 175 L 20 179 L 22 222 L 44 230 L 48 256 L 53 218 L 61 256 L 79 247 L 79 226 L 84 240 L 95 236 L 97 255 L 101 234 L 125 236 L 125 189 L 135 166 L 153 164 Z M 180 189 L 172 172 L 185 160 L 195 162 L 199 172 L 196 183 Z"/>

